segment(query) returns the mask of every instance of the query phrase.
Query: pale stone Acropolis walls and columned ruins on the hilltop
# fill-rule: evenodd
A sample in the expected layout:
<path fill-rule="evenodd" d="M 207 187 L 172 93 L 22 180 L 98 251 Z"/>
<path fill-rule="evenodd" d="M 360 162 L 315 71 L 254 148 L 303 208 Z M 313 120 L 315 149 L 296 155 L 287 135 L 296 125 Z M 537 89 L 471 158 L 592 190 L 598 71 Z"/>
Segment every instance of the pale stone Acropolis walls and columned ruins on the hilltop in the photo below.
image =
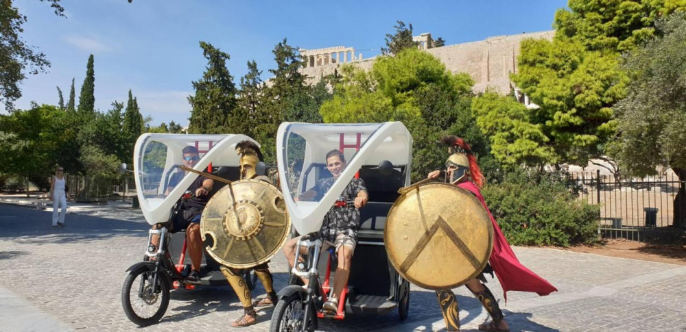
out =
<path fill-rule="evenodd" d="M 487 87 L 495 88 L 501 94 L 510 93 L 510 73 L 517 73 L 519 43 L 525 38 L 552 40 L 554 31 L 532 32 L 510 36 L 489 37 L 486 40 L 465 42 L 444 47 L 428 48 L 431 35 L 421 34 L 414 40 L 423 49 L 443 62 L 453 73 L 468 73 L 474 79 L 474 92 L 483 92 Z M 353 47 L 327 47 L 325 49 L 300 49 L 305 58 L 305 67 L 300 72 L 308 76 L 313 84 L 322 76 L 333 74 L 341 64 L 351 63 L 366 70 L 372 67 L 375 58 L 362 60 Z"/>

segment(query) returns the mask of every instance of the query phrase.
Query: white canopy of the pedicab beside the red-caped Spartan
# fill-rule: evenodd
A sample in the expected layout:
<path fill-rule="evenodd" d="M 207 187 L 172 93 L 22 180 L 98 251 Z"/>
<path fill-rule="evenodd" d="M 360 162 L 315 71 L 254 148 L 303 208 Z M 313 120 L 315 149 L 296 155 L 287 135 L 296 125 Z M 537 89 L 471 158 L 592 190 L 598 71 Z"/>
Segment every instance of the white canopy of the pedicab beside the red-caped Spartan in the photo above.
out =
<path fill-rule="evenodd" d="M 305 201 L 299 196 L 320 179 L 331 177 L 327 153 L 343 151 L 347 166 L 327 192 Z M 361 168 L 381 168 L 388 162 L 403 168 L 410 181 L 412 136 L 403 123 L 311 124 L 281 123 L 276 134 L 276 158 L 287 211 L 300 234 L 319 231 L 324 215 Z M 370 201 L 375 201 L 370 194 Z"/>

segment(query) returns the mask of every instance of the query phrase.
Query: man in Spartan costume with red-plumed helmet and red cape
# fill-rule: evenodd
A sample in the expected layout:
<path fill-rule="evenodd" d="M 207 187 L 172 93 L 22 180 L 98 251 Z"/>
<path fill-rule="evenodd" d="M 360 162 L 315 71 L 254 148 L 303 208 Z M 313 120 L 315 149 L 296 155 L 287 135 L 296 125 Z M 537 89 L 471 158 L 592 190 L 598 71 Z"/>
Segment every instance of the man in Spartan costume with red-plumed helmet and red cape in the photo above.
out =
<path fill-rule="evenodd" d="M 484 206 L 486 212 L 488 212 L 490 221 L 493 223 L 493 251 L 488 259 L 488 264 L 486 264 L 486 268 L 484 268 L 482 273 L 478 274 L 478 277 L 466 282 L 466 287 L 481 302 L 490 317 L 493 318 L 491 322 L 479 325 L 479 330 L 510 331 L 495 296 L 484 285 L 486 282 L 484 274 L 490 274 L 493 277 L 493 272 L 495 272 L 502 285 L 506 303 L 508 290 L 536 292 L 544 296 L 557 291 L 557 289 L 545 279 L 523 266 L 519 259 L 517 259 L 517 256 L 514 255 L 510 244 L 508 244 L 503 232 L 498 227 L 497 222 L 495 222 L 495 218 L 490 214 L 490 210 L 486 206 L 484 197 L 479 190 L 484 184 L 484 176 L 476 164 L 476 158 L 471 153 L 469 144 L 466 144 L 462 138 L 457 136 L 444 136 L 441 138 L 441 141 L 448 146 L 448 151 L 451 153 L 445 162 L 446 181 L 469 190 L 469 192 L 474 194 Z M 436 179 L 441 173 L 442 170 L 434 170 L 427 177 L 429 179 Z M 460 331 L 458 301 L 455 294 L 451 290 L 437 290 L 436 296 L 438 296 L 438 303 L 447 330 Z"/>

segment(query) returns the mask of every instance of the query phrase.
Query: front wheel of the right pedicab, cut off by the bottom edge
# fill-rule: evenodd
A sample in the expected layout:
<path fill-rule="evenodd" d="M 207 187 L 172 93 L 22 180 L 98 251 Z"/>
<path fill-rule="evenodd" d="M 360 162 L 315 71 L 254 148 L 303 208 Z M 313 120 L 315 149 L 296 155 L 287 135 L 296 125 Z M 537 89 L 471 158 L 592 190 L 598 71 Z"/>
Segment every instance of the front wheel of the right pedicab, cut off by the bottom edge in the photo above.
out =
<path fill-rule="evenodd" d="M 307 331 L 314 331 L 317 315 L 314 311 L 309 315 Z M 272 321 L 269 326 L 270 332 L 297 332 L 302 331 L 305 324 L 305 301 L 298 293 L 291 294 L 283 300 L 279 300 L 274 307 Z"/>

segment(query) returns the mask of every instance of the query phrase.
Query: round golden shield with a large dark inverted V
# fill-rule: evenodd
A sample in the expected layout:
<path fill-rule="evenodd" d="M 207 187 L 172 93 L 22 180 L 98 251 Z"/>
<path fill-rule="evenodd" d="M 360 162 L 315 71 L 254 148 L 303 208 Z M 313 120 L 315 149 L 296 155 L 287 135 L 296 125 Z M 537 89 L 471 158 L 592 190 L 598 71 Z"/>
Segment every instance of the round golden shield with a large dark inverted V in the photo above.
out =
<path fill-rule="evenodd" d="M 388 259 L 410 282 L 429 290 L 464 285 L 493 249 L 493 225 L 468 190 L 429 183 L 404 192 L 383 229 Z"/>

